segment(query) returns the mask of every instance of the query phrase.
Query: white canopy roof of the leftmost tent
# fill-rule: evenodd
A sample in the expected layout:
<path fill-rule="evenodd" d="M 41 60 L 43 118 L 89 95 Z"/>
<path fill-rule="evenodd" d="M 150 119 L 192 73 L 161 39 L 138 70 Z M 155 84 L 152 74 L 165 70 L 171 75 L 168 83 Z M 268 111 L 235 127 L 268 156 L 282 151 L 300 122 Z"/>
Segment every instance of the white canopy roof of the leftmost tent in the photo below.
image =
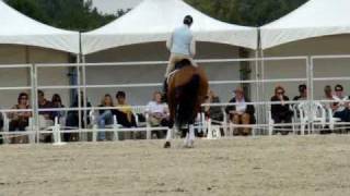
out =
<path fill-rule="evenodd" d="M 25 45 L 79 53 L 79 33 L 30 19 L 0 1 L 0 44 Z"/>

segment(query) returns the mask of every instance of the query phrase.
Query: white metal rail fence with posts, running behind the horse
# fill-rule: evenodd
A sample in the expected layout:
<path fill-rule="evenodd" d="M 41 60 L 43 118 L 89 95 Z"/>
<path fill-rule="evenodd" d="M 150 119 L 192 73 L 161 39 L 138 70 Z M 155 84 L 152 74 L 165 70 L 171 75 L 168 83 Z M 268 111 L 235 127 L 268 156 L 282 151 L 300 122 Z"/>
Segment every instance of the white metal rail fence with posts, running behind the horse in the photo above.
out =
<path fill-rule="evenodd" d="M 250 86 L 250 94 L 252 94 L 252 102 L 249 105 L 254 105 L 256 108 L 256 119 L 257 123 L 253 125 L 235 125 L 235 124 L 221 124 L 222 127 L 243 127 L 243 126 L 249 126 L 254 130 L 254 135 L 267 135 L 271 134 L 271 128 L 279 128 L 287 127 L 287 126 L 298 126 L 298 132 L 302 131 L 301 133 L 304 134 L 304 132 L 308 131 L 310 133 L 315 131 L 315 126 L 317 125 L 331 125 L 334 127 L 334 124 L 341 124 L 341 125 L 348 125 L 348 123 L 339 123 L 339 122 L 316 122 L 311 121 L 313 119 L 312 112 L 306 112 L 310 117 L 307 117 L 308 120 L 305 121 L 294 121 L 293 123 L 289 124 L 271 124 L 270 118 L 269 118 L 269 107 L 271 105 L 277 105 L 278 102 L 271 102 L 268 100 L 268 98 L 271 96 L 271 89 L 275 88 L 278 84 L 292 84 L 291 86 L 296 86 L 298 84 L 305 83 L 307 85 L 308 94 L 307 94 L 307 100 L 304 101 L 290 101 L 288 103 L 295 105 L 301 102 L 307 102 L 308 106 L 312 106 L 315 101 L 320 102 L 329 102 L 329 100 L 316 100 L 314 98 L 314 85 L 318 81 L 350 81 L 350 77 L 347 76 L 339 76 L 339 77 L 314 77 L 314 69 L 317 66 L 317 63 L 315 63 L 316 60 L 322 59 L 350 59 L 350 56 L 318 56 L 318 57 L 279 57 L 279 58 L 253 58 L 253 59 L 210 59 L 210 60 L 198 60 L 199 64 L 206 64 L 206 63 L 215 63 L 218 68 L 220 68 L 220 63 L 230 63 L 230 62 L 249 62 L 249 66 L 252 71 L 250 79 L 247 81 L 241 81 L 241 79 L 222 79 L 222 81 L 210 81 L 211 87 L 219 86 L 219 85 L 249 85 Z M 288 63 L 283 63 L 285 61 L 295 61 L 299 63 L 301 68 L 304 68 L 304 76 L 301 77 L 280 77 L 279 75 L 270 77 L 269 71 L 275 72 L 275 68 L 269 68 L 278 64 L 279 66 L 288 66 Z M 277 63 L 278 62 L 278 63 Z M 96 107 L 88 107 L 86 100 L 88 99 L 88 90 L 89 89 L 107 89 L 107 88 L 150 88 L 150 87 L 160 87 L 162 86 L 162 83 L 131 83 L 131 84 L 96 84 L 91 85 L 86 83 L 86 69 L 93 68 L 93 66 L 110 66 L 110 68 L 118 68 L 118 66 L 149 66 L 149 65 L 165 65 L 167 62 L 165 61 L 153 61 L 153 62 L 118 62 L 118 63 L 77 63 L 77 64 L 24 64 L 24 65 L 0 65 L 0 72 L 1 69 L 30 69 L 30 84 L 28 86 L 2 86 L 0 87 L 1 91 L 5 90 L 27 90 L 31 93 L 31 111 L 33 113 L 32 123 L 30 123 L 30 127 L 26 132 L 0 132 L 0 135 L 13 135 L 13 134 L 20 134 L 20 135 L 36 135 L 36 138 L 39 138 L 42 134 L 50 134 L 56 127 L 57 131 L 57 123 L 51 125 L 48 128 L 42 130 L 40 120 L 39 120 L 39 112 L 42 111 L 78 111 L 79 114 L 79 126 L 77 127 L 59 127 L 60 133 L 79 133 L 81 140 L 88 140 L 88 135 L 85 133 L 93 133 L 96 134 L 96 132 L 147 132 L 148 138 L 150 138 L 150 132 L 151 131 L 159 131 L 163 130 L 164 127 L 150 127 L 148 125 L 142 125 L 142 127 L 132 127 L 132 128 L 120 128 L 118 126 L 113 126 L 112 128 L 106 130 L 98 130 L 94 123 L 91 124 L 91 126 L 86 126 L 89 118 L 93 118 L 93 114 L 91 114 L 89 111 L 97 111 L 108 108 L 96 108 Z M 270 64 L 271 63 L 271 64 Z M 77 84 L 74 85 L 65 85 L 65 84 L 54 84 L 54 85 L 40 85 L 39 84 L 39 69 L 55 69 L 55 68 L 74 68 L 77 70 Z M 165 68 L 165 66 L 164 66 Z M 281 69 L 283 71 L 283 69 Z M 300 72 L 299 72 L 300 73 Z M 143 73 L 147 74 L 147 73 Z M 283 74 L 281 74 L 283 75 Z M 287 74 L 288 75 L 288 74 Z M 282 85 L 282 86 L 283 86 Z M 37 90 L 70 90 L 75 89 L 78 91 L 78 107 L 71 108 L 71 107 L 65 107 L 65 108 L 55 108 L 55 109 L 39 109 L 37 105 Z M 150 91 L 149 95 L 151 95 L 152 91 Z M 66 95 L 68 96 L 68 95 Z M 101 95 L 100 95 L 101 96 Z M 332 102 L 332 101 L 330 101 Z M 336 101 L 334 101 L 336 102 Z M 211 106 L 211 107 L 226 107 L 232 106 L 234 103 L 229 103 L 223 101 L 223 103 L 213 103 L 213 105 L 203 105 L 203 106 Z M 109 108 L 110 109 L 110 108 Z M 144 106 L 137 106 L 133 107 L 135 110 L 144 112 Z M 311 110 L 311 108 L 310 108 Z M 24 111 L 24 110 L 12 110 L 10 108 L 1 109 L 0 110 L 4 115 L 8 112 L 14 112 L 14 111 Z M 83 113 L 82 113 L 83 112 Z M 83 118 L 84 117 L 84 118 Z M 202 118 L 202 117 L 201 117 Z M 7 119 L 7 118 L 5 118 Z M 91 120 L 91 119 L 90 119 Z M 9 122 L 9 121 L 7 121 Z M 83 126 L 85 124 L 85 126 Z M 116 123 L 114 123 L 116 125 Z M 198 128 L 206 127 L 206 121 L 201 121 L 199 123 Z M 305 130 L 306 128 L 306 130 Z M 295 130 L 294 130 L 295 131 Z M 90 138 L 91 140 L 94 139 L 95 136 Z M 39 139 L 36 139 L 38 143 Z"/>

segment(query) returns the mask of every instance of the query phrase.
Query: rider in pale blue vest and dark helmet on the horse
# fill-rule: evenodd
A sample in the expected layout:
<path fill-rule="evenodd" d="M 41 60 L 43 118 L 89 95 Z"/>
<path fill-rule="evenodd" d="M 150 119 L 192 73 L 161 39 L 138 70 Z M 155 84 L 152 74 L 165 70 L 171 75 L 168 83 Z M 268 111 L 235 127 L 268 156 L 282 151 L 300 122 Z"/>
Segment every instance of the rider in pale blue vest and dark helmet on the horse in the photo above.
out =
<path fill-rule="evenodd" d="M 196 40 L 190 32 L 190 26 L 194 23 L 194 19 L 190 15 L 186 15 L 184 19 L 184 25 L 174 29 L 172 36 L 166 41 L 166 48 L 171 51 L 171 57 L 165 72 L 164 81 L 164 97 L 166 97 L 166 81 L 168 74 L 175 69 L 175 64 L 183 59 L 188 59 L 192 65 L 197 66 L 192 57 L 196 54 Z"/>

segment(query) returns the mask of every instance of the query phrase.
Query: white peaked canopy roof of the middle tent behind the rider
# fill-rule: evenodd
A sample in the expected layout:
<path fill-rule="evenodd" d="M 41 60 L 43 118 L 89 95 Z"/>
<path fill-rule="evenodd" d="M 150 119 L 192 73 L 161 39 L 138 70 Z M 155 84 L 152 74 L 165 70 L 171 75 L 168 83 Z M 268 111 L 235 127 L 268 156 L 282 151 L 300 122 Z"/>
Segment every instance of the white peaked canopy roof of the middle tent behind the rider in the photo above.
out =
<path fill-rule="evenodd" d="M 220 22 L 183 0 L 143 0 L 120 19 L 82 34 L 82 52 L 89 54 L 120 46 L 165 41 L 188 14 L 194 17 L 191 30 L 197 41 L 257 48 L 257 29 L 254 27 Z"/>

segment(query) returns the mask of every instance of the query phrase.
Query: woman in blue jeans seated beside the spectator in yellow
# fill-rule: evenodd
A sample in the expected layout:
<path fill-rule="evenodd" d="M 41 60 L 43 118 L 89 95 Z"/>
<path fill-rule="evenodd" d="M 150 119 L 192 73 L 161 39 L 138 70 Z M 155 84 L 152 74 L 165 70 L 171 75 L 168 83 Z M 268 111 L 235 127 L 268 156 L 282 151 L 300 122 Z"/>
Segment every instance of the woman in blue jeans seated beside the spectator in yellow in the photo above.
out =
<path fill-rule="evenodd" d="M 98 107 L 101 108 L 114 107 L 112 96 L 109 94 L 105 95 Z M 100 113 L 97 118 L 98 128 L 104 130 L 106 128 L 106 125 L 113 124 L 112 109 L 98 110 L 98 113 Z M 98 132 L 98 140 L 106 140 L 105 132 Z"/>

